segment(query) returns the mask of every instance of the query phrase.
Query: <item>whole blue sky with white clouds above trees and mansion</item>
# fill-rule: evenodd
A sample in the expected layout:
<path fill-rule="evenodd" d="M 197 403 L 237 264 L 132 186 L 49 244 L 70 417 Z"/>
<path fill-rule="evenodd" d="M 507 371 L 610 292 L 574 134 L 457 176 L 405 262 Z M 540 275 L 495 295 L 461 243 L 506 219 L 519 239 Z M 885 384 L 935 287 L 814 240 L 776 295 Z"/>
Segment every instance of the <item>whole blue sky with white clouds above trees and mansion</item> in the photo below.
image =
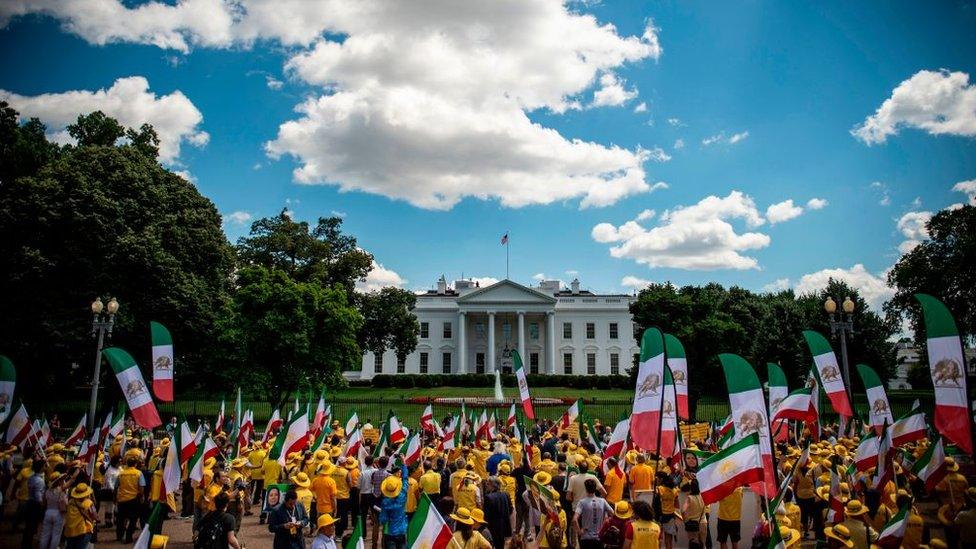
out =
<path fill-rule="evenodd" d="M 339 212 L 377 283 L 502 278 L 508 231 L 523 283 L 804 290 L 834 274 L 877 304 L 918 223 L 976 193 L 966 2 L 417 2 L 383 17 L 99 3 L 97 18 L 0 8 L 0 93 L 52 134 L 75 106 L 168 121 L 167 164 L 232 241 L 247 228 L 233 219 Z M 354 47 L 376 43 L 394 47 Z M 145 88 L 116 86 L 131 77 Z M 322 122 L 343 115 L 364 121 Z"/>

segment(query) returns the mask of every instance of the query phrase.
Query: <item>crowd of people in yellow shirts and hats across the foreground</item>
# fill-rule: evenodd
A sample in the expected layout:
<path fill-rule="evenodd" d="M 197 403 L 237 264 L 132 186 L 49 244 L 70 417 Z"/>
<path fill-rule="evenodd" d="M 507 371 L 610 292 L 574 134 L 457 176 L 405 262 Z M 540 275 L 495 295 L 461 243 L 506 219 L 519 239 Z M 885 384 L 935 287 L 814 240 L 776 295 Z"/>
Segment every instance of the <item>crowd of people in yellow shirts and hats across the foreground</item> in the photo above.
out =
<path fill-rule="evenodd" d="M 609 426 L 594 423 L 595 442 L 605 442 Z M 326 429 L 319 448 L 288 454 L 284 465 L 269 457 L 273 434 L 248 442 L 233 459 L 224 457 L 235 454 L 232 442 L 215 434 L 224 451 L 206 460 L 200 480 L 184 472 L 179 501 L 160 491 L 171 444 L 164 432 L 154 437 L 127 429 L 92 466 L 61 443 L 9 446 L 0 452 L 0 488 L 11 501 L 4 518 L 22 532 L 24 549 L 35 538 L 41 549 L 58 547 L 62 539 L 68 549 L 85 549 L 103 537 L 132 543 L 156 502 L 166 505 L 170 518 L 192 520 L 200 548 L 240 549 L 248 541 L 239 535 L 242 521 L 255 517 L 275 549 L 345 547 L 354 530 L 367 546 L 399 549 L 421 501 L 429 500 L 455 546 L 466 549 L 737 549 L 743 539 L 764 546 L 772 525 L 786 547 L 817 540 L 868 548 L 907 507 L 901 547 L 976 546 L 976 488 L 955 459 L 945 458 L 947 474 L 931 493 L 910 471 L 927 448 L 924 439 L 900 449 L 894 477 L 884 486 L 873 485 L 871 470 L 852 474 L 857 436 L 839 436 L 827 426 L 817 441 L 801 436 L 778 443 L 777 484 L 788 475 L 790 481 L 770 517 L 761 494 L 747 498 L 744 487 L 705 505 L 696 472 L 703 456 L 717 449 L 714 433 L 664 459 L 636 449 L 605 457 L 594 440 L 575 439 L 545 421 L 529 428 L 528 445 L 503 430 L 490 439 L 465 436 L 445 450 L 443 440 L 424 432 L 420 459 L 407 465 L 396 448 L 377 450 L 375 440 L 347 455 L 339 422 Z M 808 445 L 809 458 L 795 467 Z M 831 508 L 832 498 L 840 500 L 841 512 Z M 754 513 L 746 505 L 755 505 Z M 759 517 L 754 527 L 743 524 L 744 511 Z M 155 547 L 166 543 L 165 535 L 153 538 Z"/>

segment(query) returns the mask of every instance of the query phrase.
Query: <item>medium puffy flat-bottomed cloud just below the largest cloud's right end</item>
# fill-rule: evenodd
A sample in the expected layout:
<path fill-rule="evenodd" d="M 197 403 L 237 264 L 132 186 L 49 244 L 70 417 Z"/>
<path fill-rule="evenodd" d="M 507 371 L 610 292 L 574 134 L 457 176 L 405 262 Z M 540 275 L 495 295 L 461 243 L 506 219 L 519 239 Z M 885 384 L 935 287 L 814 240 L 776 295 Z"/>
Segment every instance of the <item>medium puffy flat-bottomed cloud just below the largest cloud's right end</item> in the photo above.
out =
<path fill-rule="evenodd" d="M 593 227 L 591 237 L 600 243 L 617 243 L 610 247 L 612 257 L 633 259 L 651 268 L 757 269 L 758 261 L 740 252 L 769 246 L 769 236 L 737 233 L 730 220 L 741 220 L 750 228 L 764 223 L 752 198 L 732 191 L 724 198 L 708 196 L 692 206 L 668 210 L 651 229 L 636 221 L 619 227 L 600 223 Z"/>

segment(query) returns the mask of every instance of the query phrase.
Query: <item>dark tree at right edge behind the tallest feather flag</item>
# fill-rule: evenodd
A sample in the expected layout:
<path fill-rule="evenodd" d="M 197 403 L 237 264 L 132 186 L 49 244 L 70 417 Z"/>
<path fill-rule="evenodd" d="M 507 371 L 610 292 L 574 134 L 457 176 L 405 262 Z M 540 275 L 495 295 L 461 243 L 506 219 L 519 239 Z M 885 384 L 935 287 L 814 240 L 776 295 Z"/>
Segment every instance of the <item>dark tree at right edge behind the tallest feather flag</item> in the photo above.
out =
<path fill-rule="evenodd" d="M 895 324 L 907 317 L 916 343 L 924 345 L 921 309 L 913 296 L 931 294 L 949 307 L 960 334 L 971 340 L 976 337 L 976 207 L 942 210 L 926 227 L 929 238 L 888 273 L 888 285 L 896 291 L 885 312 Z"/>

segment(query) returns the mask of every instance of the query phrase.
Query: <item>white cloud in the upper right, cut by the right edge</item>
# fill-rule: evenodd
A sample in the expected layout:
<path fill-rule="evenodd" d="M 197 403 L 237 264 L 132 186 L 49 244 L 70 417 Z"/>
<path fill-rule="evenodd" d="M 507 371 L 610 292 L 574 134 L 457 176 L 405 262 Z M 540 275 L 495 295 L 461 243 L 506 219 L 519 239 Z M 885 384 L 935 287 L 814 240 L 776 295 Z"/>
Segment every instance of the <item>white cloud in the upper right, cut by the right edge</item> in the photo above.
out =
<path fill-rule="evenodd" d="M 931 135 L 976 136 L 976 86 L 964 72 L 922 70 L 903 81 L 891 97 L 851 130 L 868 145 L 884 143 L 902 127 Z"/>

